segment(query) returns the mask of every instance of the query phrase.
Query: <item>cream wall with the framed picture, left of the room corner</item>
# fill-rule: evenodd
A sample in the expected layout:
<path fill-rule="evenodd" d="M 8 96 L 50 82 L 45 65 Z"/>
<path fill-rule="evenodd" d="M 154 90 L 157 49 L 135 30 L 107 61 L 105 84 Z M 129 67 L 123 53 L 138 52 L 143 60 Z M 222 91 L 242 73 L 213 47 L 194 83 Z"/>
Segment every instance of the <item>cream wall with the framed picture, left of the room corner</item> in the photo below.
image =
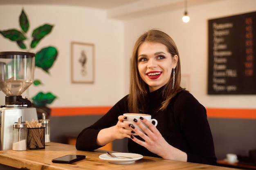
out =
<path fill-rule="evenodd" d="M 23 6 L 0 6 L 0 30 L 18 28 Z M 25 5 L 25 13 L 30 23 L 30 33 L 45 23 L 53 24 L 52 32 L 40 41 L 37 52 L 45 46 L 56 46 L 58 58 L 49 70 L 50 75 L 40 68 L 35 70 L 35 78 L 44 85 L 31 85 L 29 96 L 37 92 L 52 92 L 56 99 L 51 107 L 70 106 L 111 106 L 124 94 L 124 31 L 123 22 L 106 18 L 106 11 L 65 6 Z M 71 83 L 71 42 L 95 45 L 94 84 Z M 0 51 L 20 50 L 16 42 L 0 36 Z M 4 104 L 4 94 L 0 92 L 0 103 Z M 24 92 L 22 96 L 27 96 Z"/>

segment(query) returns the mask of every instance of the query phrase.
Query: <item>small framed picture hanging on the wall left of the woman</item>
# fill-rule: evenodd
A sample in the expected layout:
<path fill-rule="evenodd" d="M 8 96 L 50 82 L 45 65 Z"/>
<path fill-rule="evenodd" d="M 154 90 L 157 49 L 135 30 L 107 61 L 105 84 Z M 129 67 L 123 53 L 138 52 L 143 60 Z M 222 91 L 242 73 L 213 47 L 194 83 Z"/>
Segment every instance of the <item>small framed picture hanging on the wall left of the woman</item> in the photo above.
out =
<path fill-rule="evenodd" d="M 72 83 L 94 83 L 94 44 L 71 42 Z"/>

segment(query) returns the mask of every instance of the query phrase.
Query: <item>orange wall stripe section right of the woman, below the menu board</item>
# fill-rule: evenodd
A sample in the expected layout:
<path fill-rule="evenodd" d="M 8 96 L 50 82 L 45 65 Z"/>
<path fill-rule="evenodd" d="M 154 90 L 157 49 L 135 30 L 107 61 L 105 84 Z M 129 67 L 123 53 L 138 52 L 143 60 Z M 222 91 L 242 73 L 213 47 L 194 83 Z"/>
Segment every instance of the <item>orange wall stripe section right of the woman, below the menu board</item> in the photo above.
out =
<path fill-rule="evenodd" d="M 256 119 L 256 109 L 206 108 L 208 118 Z"/>

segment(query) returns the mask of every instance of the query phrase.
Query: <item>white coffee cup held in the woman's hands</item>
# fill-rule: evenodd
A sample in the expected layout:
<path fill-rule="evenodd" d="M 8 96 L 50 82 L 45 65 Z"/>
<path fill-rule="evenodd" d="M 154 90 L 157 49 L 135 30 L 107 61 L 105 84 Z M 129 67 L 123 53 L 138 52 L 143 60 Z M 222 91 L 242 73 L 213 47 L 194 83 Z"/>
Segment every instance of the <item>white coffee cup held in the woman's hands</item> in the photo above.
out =
<path fill-rule="evenodd" d="M 151 115 L 148 114 L 142 114 L 142 113 L 124 113 L 124 116 L 127 117 L 127 120 L 124 121 L 124 123 L 129 123 L 129 124 L 133 124 L 133 126 L 135 126 L 136 128 L 138 128 L 141 132 L 142 131 L 136 124 L 134 124 L 133 119 L 137 119 L 138 121 L 140 121 L 140 117 L 152 122 L 155 122 L 155 124 L 153 124 L 154 126 L 157 126 L 157 120 L 156 119 L 151 119 Z M 146 124 L 144 124 L 146 127 L 148 127 Z M 130 128 L 126 128 L 126 129 L 130 129 Z M 145 132 L 144 132 L 145 133 Z M 133 135 L 137 135 L 137 133 L 134 133 Z"/>

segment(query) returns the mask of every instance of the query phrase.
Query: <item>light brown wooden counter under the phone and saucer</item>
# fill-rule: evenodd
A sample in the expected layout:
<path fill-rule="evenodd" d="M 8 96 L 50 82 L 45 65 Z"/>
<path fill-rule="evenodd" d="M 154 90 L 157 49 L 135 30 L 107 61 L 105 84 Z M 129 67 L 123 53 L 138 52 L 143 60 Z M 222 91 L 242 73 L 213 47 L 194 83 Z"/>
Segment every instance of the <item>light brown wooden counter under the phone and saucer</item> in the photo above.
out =
<path fill-rule="evenodd" d="M 0 150 L 0 163 L 15 168 L 27 170 L 103 170 L 103 169 L 126 169 L 126 170 L 148 170 L 148 169 L 168 169 L 168 170 L 231 170 L 232 168 L 210 166 L 200 163 L 189 163 L 165 160 L 155 157 L 143 157 L 131 164 L 114 164 L 99 159 L 99 155 L 106 153 L 106 150 L 95 150 L 86 152 L 76 150 L 75 146 L 50 142 L 45 145 L 45 149 L 40 150 Z M 69 154 L 86 155 L 86 158 L 71 164 L 52 163 L 52 159 Z"/>

